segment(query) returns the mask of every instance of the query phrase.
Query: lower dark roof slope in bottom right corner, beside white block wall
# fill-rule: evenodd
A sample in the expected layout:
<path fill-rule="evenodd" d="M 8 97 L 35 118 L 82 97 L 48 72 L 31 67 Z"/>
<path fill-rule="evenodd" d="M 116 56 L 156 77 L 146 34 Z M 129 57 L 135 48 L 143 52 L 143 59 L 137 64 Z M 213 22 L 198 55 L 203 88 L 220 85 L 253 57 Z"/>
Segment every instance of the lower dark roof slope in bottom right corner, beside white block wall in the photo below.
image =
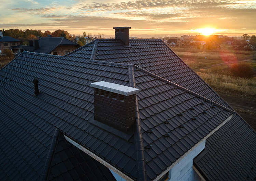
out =
<path fill-rule="evenodd" d="M 255 131 L 236 115 L 206 140 L 194 164 L 211 181 L 255 180 L 255 141 Z"/>

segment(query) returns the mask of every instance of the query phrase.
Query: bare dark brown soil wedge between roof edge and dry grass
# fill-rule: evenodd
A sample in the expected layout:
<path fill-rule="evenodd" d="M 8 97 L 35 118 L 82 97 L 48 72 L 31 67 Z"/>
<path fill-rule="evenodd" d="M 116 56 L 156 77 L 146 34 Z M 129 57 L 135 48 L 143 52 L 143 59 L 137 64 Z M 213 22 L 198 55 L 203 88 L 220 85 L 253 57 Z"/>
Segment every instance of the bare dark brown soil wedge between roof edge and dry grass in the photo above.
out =
<path fill-rule="evenodd" d="M 235 94 L 217 92 L 255 131 L 256 99 Z"/>

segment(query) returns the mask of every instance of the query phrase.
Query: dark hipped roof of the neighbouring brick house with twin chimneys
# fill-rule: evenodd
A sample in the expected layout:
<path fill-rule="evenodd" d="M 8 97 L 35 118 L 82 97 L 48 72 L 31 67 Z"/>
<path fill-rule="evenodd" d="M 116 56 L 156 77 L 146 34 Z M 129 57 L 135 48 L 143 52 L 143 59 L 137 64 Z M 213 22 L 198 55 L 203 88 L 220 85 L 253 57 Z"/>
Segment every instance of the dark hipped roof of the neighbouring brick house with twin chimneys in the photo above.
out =
<path fill-rule="evenodd" d="M 73 45 L 81 47 L 79 44 L 72 42 L 71 40 L 64 37 L 43 37 L 38 40 L 39 48 L 35 50 L 34 46 L 25 46 L 22 49 L 24 51 L 31 51 L 37 53 L 49 54 L 54 51 L 60 45 Z"/>

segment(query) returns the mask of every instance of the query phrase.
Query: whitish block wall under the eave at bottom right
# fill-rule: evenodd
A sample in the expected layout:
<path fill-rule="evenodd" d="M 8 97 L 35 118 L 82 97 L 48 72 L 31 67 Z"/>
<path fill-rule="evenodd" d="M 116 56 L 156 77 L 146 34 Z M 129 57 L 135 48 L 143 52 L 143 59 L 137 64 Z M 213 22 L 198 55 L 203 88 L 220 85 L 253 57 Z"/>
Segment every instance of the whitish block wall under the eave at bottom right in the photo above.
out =
<path fill-rule="evenodd" d="M 183 181 L 183 180 L 201 180 L 193 169 L 194 158 L 204 149 L 205 141 L 198 145 L 193 151 L 191 151 L 184 159 L 176 164 L 169 171 L 168 181 Z"/>

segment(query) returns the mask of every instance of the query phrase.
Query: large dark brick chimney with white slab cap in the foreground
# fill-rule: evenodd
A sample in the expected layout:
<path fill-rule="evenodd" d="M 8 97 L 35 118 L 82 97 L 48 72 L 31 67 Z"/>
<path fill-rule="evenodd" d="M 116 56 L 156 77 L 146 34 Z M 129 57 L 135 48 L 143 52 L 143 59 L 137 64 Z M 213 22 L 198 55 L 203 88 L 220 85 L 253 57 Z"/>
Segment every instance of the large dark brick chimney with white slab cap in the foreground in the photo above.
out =
<path fill-rule="evenodd" d="M 135 121 L 135 101 L 139 89 L 109 82 L 95 82 L 94 119 L 127 133 Z"/>

